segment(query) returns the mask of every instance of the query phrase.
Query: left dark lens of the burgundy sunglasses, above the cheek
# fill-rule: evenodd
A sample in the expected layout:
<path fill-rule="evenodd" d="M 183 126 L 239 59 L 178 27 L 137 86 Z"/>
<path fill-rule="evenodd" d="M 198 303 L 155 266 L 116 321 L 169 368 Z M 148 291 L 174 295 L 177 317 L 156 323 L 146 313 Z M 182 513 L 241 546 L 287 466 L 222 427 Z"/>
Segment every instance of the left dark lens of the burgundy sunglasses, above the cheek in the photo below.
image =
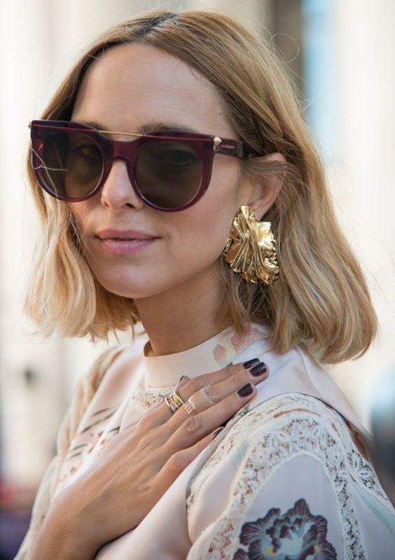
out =
<path fill-rule="evenodd" d="M 102 152 L 92 138 L 81 132 L 47 136 L 41 160 L 40 172 L 46 186 L 64 198 L 88 196 L 102 177 Z"/>

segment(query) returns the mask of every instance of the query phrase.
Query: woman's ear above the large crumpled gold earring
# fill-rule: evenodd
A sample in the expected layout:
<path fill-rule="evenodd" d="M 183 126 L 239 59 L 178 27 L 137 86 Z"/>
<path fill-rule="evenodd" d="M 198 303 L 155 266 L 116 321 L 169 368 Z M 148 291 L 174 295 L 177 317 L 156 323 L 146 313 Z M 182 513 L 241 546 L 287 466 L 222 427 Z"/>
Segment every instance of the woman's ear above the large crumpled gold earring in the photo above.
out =
<path fill-rule="evenodd" d="M 286 160 L 281 153 L 277 152 L 255 159 L 257 163 L 260 161 L 263 164 L 263 168 L 267 168 L 268 174 L 263 180 L 262 177 L 256 177 L 256 179 L 249 177 L 250 188 L 247 194 L 249 200 L 246 202 L 244 198 L 244 204 L 247 203 L 254 210 L 256 219 L 261 220 L 282 189 L 286 175 L 285 170 L 282 170 L 282 166 L 286 164 Z"/>

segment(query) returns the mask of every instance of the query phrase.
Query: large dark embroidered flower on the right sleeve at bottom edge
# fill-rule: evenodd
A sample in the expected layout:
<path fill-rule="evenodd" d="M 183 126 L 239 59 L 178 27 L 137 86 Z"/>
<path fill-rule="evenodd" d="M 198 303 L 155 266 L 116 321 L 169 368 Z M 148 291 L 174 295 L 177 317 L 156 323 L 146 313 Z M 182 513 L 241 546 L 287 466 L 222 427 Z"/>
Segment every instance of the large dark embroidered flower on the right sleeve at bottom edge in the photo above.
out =
<path fill-rule="evenodd" d="M 244 523 L 239 538 L 249 549 L 237 549 L 233 560 L 335 560 L 327 532 L 325 517 L 312 515 L 301 498 L 284 515 L 272 507 L 265 517 Z"/>

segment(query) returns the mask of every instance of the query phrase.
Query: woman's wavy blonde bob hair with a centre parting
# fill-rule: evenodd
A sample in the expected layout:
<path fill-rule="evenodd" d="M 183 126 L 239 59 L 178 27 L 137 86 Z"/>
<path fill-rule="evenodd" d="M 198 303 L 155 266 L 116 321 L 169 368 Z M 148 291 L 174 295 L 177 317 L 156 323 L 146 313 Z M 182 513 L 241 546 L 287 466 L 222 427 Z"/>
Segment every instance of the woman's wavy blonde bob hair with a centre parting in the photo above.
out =
<path fill-rule="evenodd" d="M 210 11 L 157 10 L 106 31 L 64 78 L 41 118 L 69 120 L 86 70 L 109 48 L 144 43 L 179 57 L 211 81 L 236 134 L 257 153 L 286 158 L 282 190 L 265 214 L 277 239 L 281 273 L 272 285 L 250 285 L 221 259 L 223 301 L 218 313 L 242 332 L 253 320 L 268 325 L 271 346 L 286 353 L 303 346 L 323 363 L 366 352 L 377 331 L 361 268 L 335 219 L 324 170 L 303 121 L 286 69 L 258 34 Z M 259 158 L 241 173 L 261 177 L 284 168 Z M 139 321 L 132 299 L 101 285 L 83 257 L 81 235 L 67 203 L 44 193 L 30 158 L 29 184 L 43 233 L 29 278 L 25 311 L 45 336 L 105 339 Z"/>

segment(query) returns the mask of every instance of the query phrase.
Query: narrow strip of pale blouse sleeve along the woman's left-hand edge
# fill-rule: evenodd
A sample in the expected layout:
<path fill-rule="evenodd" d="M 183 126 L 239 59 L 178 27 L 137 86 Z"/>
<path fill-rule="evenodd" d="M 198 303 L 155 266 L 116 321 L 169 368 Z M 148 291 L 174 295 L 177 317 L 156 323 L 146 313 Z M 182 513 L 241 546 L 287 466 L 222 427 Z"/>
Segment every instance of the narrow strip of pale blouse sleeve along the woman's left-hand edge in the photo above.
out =
<path fill-rule="evenodd" d="M 111 362 L 115 360 L 116 356 L 121 351 L 122 348 L 120 349 L 119 346 L 111 347 L 105 350 L 92 364 L 88 374 L 85 374 L 78 381 L 69 409 L 64 415 L 60 428 L 57 432 L 56 455 L 52 458 L 43 474 L 39 489 L 36 493 L 36 497 L 34 498 L 29 529 L 14 560 L 29 560 L 32 557 L 34 543 L 36 542 L 37 535 L 39 534 L 43 521 L 46 517 L 50 501 L 53 497 L 53 493 L 55 492 L 60 467 L 62 466 L 62 461 L 69 449 L 71 439 L 78 428 L 78 424 L 80 423 L 88 404 L 90 403 L 93 395 L 95 395 L 106 369 L 108 369 Z"/>

